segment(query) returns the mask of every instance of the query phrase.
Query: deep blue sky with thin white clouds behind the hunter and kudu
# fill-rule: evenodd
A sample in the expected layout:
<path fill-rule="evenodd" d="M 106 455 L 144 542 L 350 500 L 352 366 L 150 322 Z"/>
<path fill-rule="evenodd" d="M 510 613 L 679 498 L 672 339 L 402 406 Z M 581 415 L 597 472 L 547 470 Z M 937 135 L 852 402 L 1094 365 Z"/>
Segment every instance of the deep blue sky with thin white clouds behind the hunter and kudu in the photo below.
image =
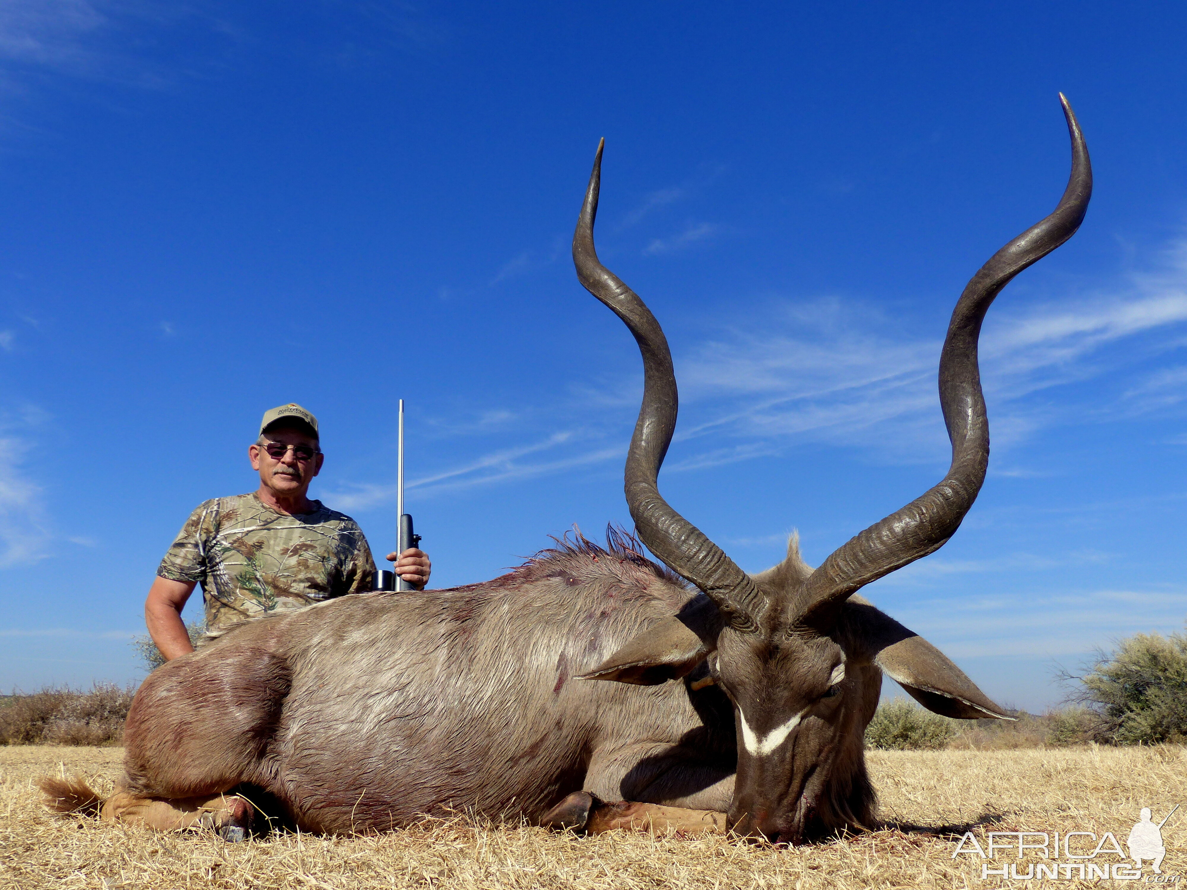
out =
<path fill-rule="evenodd" d="M 268 407 L 315 496 L 437 586 L 628 522 L 641 388 L 577 284 L 598 246 L 681 387 L 661 487 L 747 570 L 820 562 L 947 465 L 939 345 L 1046 215 L 1073 103 L 1080 233 L 990 311 L 994 452 L 939 553 L 867 595 L 994 698 L 1187 612 L 1187 75 L 1179 4 L 0 4 L 0 686 L 141 675 L 128 638 Z M 186 617 L 199 611 L 195 596 Z"/>

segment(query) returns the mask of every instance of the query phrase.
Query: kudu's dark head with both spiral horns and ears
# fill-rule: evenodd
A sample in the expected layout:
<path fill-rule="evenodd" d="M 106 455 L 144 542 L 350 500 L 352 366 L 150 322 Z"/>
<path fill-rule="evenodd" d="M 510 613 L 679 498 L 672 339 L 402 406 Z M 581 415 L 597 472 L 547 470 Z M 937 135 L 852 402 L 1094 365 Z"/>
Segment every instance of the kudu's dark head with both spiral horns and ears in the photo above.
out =
<path fill-rule="evenodd" d="M 787 560 L 757 576 L 743 572 L 673 510 L 656 487 L 675 428 L 675 376 L 655 317 L 597 259 L 598 146 L 573 236 L 573 262 L 585 288 L 630 329 L 643 357 L 643 401 L 627 457 L 627 503 L 643 543 L 704 596 L 585 678 L 658 684 L 709 660 L 713 680 L 734 705 L 738 761 L 729 822 L 735 831 L 800 843 L 869 820 L 872 793 L 862 735 L 876 707 L 881 673 L 937 713 L 1007 717 L 931 643 L 853 595 L 942 547 L 985 479 L 989 424 L 977 363 L 982 319 L 1010 279 L 1075 233 L 1092 191 L 1084 138 L 1062 95 L 1060 101 L 1072 138 L 1067 190 L 1050 216 L 973 275 L 944 341 L 939 388 L 952 440 L 947 475 L 819 568 L 804 565 L 793 541 Z"/>

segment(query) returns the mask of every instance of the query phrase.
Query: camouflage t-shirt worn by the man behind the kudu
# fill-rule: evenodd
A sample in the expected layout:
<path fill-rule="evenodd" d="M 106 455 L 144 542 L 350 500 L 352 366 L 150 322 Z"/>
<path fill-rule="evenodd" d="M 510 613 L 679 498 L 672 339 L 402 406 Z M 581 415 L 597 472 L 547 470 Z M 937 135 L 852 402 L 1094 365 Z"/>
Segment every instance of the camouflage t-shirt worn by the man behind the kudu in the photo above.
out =
<path fill-rule="evenodd" d="M 255 492 L 196 509 L 157 574 L 202 585 L 207 632 L 217 636 L 261 615 L 370 590 L 375 560 L 355 521 L 313 501 L 278 513 Z"/>

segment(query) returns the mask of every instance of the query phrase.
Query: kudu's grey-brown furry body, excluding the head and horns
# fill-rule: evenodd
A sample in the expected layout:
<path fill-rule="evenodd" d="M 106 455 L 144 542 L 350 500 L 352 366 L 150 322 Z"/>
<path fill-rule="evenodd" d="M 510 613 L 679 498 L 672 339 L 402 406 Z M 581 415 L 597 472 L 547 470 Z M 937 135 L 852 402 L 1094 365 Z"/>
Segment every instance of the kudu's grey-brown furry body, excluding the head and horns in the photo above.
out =
<path fill-rule="evenodd" d="M 736 742 L 721 691 L 575 679 L 694 596 L 621 540 L 578 539 L 485 584 L 258 619 L 145 681 L 131 789 L 247 782 L 334 833 L 471 809 L 539 819 L 582 788 L 724 810 Z"/>

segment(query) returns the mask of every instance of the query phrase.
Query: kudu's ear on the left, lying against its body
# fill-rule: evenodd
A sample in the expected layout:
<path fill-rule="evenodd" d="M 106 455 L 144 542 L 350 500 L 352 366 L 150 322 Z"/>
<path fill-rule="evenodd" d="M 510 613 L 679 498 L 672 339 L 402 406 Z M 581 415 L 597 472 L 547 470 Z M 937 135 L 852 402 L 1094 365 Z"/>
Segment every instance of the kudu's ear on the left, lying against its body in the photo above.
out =
<path fill-rule="evenodd" d="M 578 680 L 658 686 L 692 672 L 717 648 L 722 616 L 709 597 L 692 599 L 678 615 L 660 618 Z"/>

